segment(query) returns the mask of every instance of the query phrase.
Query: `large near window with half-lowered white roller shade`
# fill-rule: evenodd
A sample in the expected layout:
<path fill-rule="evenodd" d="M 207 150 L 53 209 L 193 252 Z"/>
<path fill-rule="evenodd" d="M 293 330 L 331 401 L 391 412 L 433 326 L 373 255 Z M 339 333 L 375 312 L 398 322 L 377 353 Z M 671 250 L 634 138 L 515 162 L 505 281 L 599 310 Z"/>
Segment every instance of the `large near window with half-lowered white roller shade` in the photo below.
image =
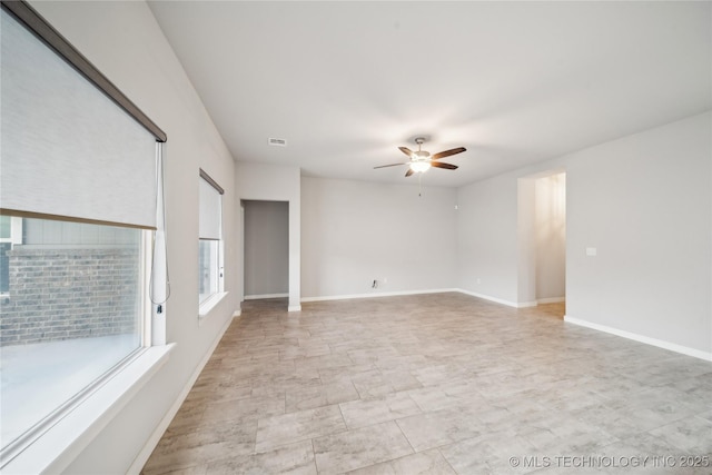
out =
<path fill-rule="evenodd" d="M 166 137 L 29 4 L 2 3 L 0 40 L 7 468 L 151 345 Z"/>

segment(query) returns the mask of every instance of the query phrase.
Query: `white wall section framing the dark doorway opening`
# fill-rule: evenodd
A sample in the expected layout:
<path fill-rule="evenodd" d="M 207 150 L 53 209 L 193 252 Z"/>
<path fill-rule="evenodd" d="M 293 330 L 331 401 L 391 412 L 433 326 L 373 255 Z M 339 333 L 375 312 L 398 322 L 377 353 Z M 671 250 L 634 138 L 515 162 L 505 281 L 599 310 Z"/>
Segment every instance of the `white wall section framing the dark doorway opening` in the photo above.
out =
<path fill-rule="evenodd" d="M 289 202 L 289 310 L 300 309 L 301 296 L 301 180 L 297 167 L 281 167 L 238 161 L 235 167 L 236 198 L 239 200 Z M 240 229 L 235 234 L 238 249 L 244 249 Z M 238 256 L 239 257 L 239 256 Z M 237 259 L 239 300 L 245 295 L 244 263 Z"/>

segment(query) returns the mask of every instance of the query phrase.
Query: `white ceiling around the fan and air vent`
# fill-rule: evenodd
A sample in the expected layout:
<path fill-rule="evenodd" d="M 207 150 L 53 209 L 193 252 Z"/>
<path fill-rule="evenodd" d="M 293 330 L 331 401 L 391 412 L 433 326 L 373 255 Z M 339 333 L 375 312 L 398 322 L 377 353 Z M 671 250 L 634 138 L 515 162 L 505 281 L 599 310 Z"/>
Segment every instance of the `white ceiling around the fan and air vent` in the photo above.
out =
<path fill-rule="evenodd" d="M 373 167 L 425 135 L 462 186 L 712 107 L 711 2 L 149 4 L 235 159 L 308 176 L 409 182 Z"/>

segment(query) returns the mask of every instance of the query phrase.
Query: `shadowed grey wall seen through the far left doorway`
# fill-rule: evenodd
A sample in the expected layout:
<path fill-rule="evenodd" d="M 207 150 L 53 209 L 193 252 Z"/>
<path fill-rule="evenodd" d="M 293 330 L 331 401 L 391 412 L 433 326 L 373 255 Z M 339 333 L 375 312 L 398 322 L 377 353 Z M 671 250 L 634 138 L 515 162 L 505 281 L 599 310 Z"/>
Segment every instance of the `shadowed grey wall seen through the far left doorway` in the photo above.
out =
<path fill-rule="evenodd" d="M 289 293 L 289 204 L 243 201 L 245 297 Z"/>

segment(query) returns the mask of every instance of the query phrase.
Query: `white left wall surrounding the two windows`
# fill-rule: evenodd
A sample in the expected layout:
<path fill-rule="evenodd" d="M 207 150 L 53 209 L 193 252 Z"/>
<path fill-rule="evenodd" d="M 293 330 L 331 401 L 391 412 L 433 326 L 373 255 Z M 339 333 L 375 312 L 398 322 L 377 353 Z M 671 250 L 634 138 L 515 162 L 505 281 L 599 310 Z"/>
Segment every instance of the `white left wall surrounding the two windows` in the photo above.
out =
<path fill-rule="evenodd" d="M 235 235 L 234 161 L 144 2 L 31 2 L 168 135 L 166 194 L 172 294 L 166 306 L 170 358 L 67 468 L 123 474 L 208 355 L 237 307 L 230 294 L 198 324 L 198 172 L 226 190 L 225 236 Z M 226 289 L 236 286 L 226 241 Z"/>

